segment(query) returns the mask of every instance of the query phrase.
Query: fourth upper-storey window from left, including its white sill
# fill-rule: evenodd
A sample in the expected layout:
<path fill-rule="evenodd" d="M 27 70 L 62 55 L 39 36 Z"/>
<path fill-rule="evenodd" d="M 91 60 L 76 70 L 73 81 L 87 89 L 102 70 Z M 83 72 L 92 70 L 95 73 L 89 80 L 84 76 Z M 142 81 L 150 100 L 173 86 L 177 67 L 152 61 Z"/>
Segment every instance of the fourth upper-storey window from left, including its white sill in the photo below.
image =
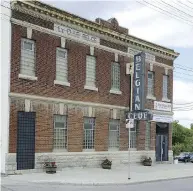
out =
<path fill-rule="evenodd" d="M 112 94 L 122 94 L 121 92 L 121 66 L 118 62 L 111 64 L 111 90 Z"/>

